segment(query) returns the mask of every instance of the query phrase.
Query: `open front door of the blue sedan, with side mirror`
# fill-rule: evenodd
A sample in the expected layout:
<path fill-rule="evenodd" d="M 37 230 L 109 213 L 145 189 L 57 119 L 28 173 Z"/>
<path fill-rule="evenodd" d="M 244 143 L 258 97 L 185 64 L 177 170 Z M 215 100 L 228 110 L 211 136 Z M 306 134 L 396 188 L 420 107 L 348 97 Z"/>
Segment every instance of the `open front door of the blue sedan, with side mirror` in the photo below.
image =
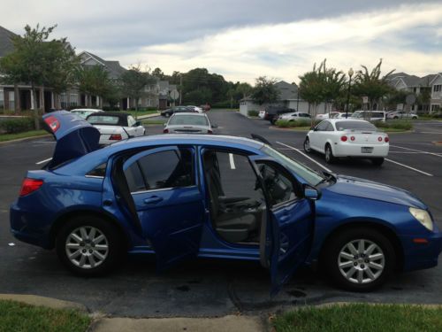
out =
<path fill-rule="evenodd" d="M 262 228 L 261 262 L 271 272 L 275 295 L 307 259 L 314 229 L 313 204 L 303 198 L 299 182 L 269 160 L 256 160 L 268 205 Z"/>

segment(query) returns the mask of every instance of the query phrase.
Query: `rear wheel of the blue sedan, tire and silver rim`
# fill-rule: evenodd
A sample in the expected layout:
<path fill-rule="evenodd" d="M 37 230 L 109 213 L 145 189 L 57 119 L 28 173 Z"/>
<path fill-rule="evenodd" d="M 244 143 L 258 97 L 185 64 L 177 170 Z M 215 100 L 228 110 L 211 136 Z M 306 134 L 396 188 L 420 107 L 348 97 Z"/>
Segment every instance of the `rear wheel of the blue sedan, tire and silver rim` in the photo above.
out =
<path fill-rule="evenodd" d="M 90 235 L 95 242 L 91 241 Z M 88 215 L 74 217 L 67 220 L 57 233 L 57 256 L 73 274 L 103 275 L 122 258 L 124 246 L 121 239 L 117 228 L 107 220 Z M 70 258 L 69 254 L 73 256 Z"/>

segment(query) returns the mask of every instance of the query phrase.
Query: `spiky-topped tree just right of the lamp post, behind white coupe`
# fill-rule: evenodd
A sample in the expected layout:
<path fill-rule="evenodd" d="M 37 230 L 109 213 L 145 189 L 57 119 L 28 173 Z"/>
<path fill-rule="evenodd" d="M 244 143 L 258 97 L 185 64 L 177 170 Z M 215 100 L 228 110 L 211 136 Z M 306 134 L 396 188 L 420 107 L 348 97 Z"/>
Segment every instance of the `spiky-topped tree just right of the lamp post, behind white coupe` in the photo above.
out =
<path fill-rule="evenodd" d="M 378 104 L 382 97 L 392 91 L 387 79 L 394 72 L 394 69 L 381 77 L 381 66 L 382 58 L 370 73 L 366 66 L 362 66 L 362 70 L 358 70 L 354 78 L 353 93 L 359 97 L 369 97 L 370 110 L 373 109 L 373 104 Z"/>

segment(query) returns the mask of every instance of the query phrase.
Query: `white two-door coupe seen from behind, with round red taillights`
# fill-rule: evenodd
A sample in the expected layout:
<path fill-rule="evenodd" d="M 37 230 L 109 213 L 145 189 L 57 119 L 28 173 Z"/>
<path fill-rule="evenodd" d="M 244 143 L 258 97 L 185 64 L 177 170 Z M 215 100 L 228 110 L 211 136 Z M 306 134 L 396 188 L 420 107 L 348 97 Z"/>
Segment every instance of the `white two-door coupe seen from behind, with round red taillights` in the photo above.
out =
<path fill-rule="evenodd" d="M 304 151 L 324 153 L 329 164 L 339 157 L 355 157 L 369 158 L 375 166 L 381 166 L 388 156 L 389 141 L 388 135 L 377 131 L 369 121 L 329 119 L 309 131 Z"/>

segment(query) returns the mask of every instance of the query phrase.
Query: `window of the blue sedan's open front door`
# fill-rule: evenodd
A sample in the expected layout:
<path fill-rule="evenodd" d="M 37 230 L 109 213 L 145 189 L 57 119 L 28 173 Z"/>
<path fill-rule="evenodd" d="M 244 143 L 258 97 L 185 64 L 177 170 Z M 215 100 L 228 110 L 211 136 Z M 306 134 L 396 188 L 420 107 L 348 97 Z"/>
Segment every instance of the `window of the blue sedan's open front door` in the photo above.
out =
<path fill-rule="evenodd" d="M 257 166 L 263 176 L 264 187 L 269 195 L 271 206 L 296 199 L 296 187 L 285 170 L 269 162 L 258 162 Z"/>

